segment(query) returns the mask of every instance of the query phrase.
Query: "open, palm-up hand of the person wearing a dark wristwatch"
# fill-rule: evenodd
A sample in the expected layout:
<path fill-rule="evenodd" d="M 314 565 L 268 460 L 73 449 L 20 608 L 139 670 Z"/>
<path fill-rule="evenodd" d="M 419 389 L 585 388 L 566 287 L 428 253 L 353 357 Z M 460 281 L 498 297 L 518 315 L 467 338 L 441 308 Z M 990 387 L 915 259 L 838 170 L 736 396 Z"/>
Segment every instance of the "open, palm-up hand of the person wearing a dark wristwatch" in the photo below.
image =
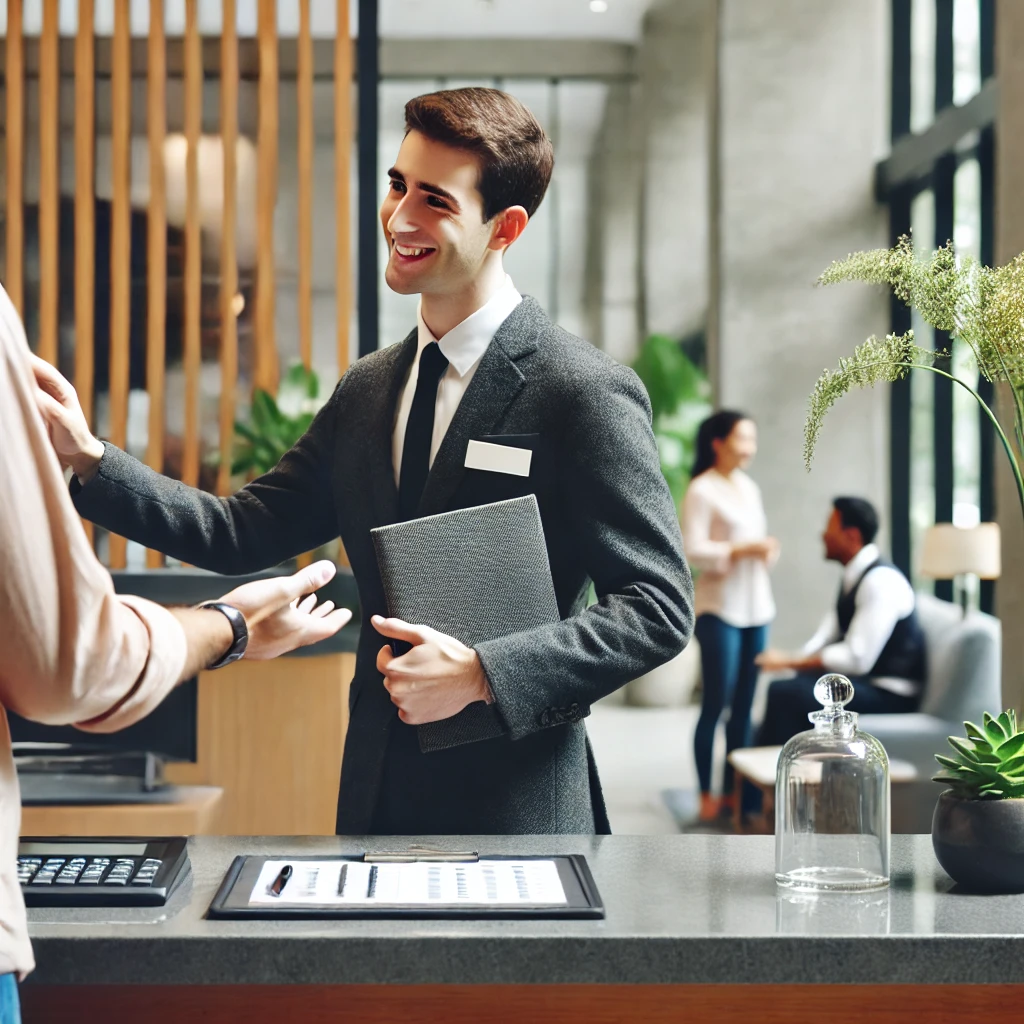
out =
<path fill-rule="evenodd" d="M 336 571 L 333 562 L 314 562 L 294 575 L 243 584 L 220 598 L 245 615 L 249 629 L 245 656 L 266 662 L 334 636 L 352 613 L 347 608 L 335 610 L 333 601 L 317 606 L 312 591 L 330 583 Z M 304 594 L 308 596 L 303 599 Z"/>

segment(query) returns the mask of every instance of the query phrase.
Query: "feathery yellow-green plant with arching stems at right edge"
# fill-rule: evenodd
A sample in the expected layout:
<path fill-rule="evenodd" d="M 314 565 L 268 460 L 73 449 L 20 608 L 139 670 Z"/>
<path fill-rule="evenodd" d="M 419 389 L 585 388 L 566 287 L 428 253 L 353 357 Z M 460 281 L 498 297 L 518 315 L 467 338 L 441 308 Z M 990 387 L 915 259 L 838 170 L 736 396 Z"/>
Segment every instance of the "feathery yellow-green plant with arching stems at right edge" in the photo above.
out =
<path fill-rule="evenodd" d="M 1016 449 L 995 413 L 975 388 L 943 369 L 946 352 L 922 348 L 913 332 L 870 337 L 837 370 L 818 379 L 810 399 L 804 432 L 808 468 L 821 424 L 829 409 L 855 387 L 901 380 L 911 370 L 927 370 L 952 381 L 977 400 L 992 424 L 1010 460 L 1024 512 L 1024 253 L 1006 266 L 987 267 L 956 253 L 952 243 L 925 257 L 916 254 L 906 236 L 892 249 L 852 253 L 833 263 L 819 284 L 842 281 L 888 285 L 893 294 L 939 331 L 970 346 L 979 371 L 990 381 L 1009 385 L 1013 400 Z M 938 365 L 936 365 L 938 362 Z"/>

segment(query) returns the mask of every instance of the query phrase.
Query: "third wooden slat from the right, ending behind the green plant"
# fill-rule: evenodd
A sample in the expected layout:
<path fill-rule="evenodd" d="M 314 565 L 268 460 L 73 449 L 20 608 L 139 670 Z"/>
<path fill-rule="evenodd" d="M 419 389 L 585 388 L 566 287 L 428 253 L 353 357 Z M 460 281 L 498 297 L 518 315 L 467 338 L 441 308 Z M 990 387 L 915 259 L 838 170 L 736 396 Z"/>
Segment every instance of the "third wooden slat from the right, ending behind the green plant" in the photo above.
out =
<path fill-rule="evenodd" d="M 253 384 L 278 386 L 274 339 L 273 209 L 278 200 L 278 12 L 274 0 L 259 0 L 259 150 L 256 171 L 256 352 Z"/>

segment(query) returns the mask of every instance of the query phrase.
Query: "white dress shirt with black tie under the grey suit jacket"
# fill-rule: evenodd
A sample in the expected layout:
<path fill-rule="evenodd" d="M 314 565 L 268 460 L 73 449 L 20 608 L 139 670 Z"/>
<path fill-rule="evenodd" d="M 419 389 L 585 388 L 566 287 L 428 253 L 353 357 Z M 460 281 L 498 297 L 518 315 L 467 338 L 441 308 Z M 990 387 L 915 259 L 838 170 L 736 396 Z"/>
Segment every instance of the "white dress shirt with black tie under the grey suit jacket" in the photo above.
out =
<path fill-rule="evenodd" d="M 419 329 L 419 345 L 416 359 L 410 368 L 406 383 L 395 407 L 394 431 L 391 435 L 391 460 L 394 464 L 394 482 L 398 483 L 401 473 L 401 450 L 406 443 L 406 427 L 409 424 L 409 414 L 413 408 L 413 397 L 416 394 L 416 382 L 420 377 L 420 353 L 431 342 L 436 341 L 441 354 L 449 360 L 447 370 L 441 375 L 437 386 L 437 403 L 434 406 L 434 433 L 430 441 L 430 465 L 441 446 L 444 434 L 452 425 L 459 402 L 462 401 L 469 382 L 480 365 L 483 353 L 487 350 L 498 329 L 508 319 L 509 314 L 519 303 L 522 296 L 516 291 L 512 279 L 505 275 L 505 283 L 475 313 L 457 324 L 443 338 L 437 339 L 423 322 L 422 300 L 417 314 Z"/>

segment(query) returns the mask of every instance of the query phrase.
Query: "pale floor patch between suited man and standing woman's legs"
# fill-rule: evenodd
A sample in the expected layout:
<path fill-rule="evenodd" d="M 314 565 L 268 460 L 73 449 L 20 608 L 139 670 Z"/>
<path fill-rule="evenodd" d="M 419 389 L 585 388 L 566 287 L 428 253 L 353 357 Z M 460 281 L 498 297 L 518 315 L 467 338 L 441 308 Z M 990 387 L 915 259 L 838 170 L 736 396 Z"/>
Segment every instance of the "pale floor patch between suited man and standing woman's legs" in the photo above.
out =
<path fill-rule="evenodd" d="M 695 706 L 594 706 L 587 731 L 612 831 L 653 836 L 679 830 L 662 800 L 662 791 L 696 787 L 693 728 L 698 713 Z"/>

